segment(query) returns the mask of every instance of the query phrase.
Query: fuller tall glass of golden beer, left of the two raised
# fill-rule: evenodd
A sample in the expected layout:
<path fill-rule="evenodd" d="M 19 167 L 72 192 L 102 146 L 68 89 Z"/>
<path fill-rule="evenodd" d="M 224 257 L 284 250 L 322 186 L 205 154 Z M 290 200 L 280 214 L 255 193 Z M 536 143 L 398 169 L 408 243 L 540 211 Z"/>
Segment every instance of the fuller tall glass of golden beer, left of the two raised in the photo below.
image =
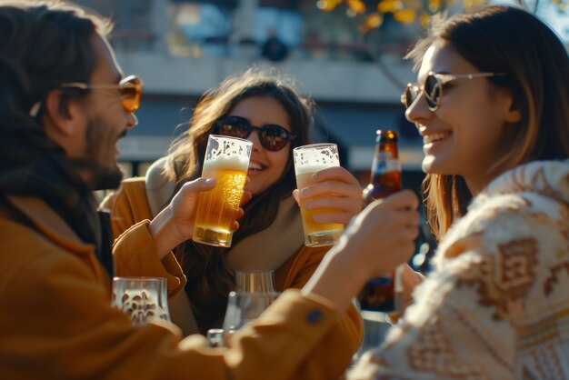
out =
<path fill-rule="evenodd" d="M 209 136 L 202 176 L 215 178 L 217 185 L 199 195 L 192 237 L 196 243 L 231 246 L 252 147 L 249 140 Z"/>

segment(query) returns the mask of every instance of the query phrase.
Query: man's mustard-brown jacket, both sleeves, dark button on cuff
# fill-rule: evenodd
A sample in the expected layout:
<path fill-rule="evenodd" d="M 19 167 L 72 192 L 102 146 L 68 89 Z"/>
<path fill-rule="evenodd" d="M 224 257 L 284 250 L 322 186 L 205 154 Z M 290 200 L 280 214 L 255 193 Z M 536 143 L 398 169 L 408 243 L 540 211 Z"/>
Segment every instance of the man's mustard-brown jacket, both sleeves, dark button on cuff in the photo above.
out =
<path fill-rule="evenodd" d="M 164 275 L 185 285 L 170 255 L 160 262 L 148 223 L 115 242 L 117 275 Z M 347 358 L 343 326 L 325 300 L 289 290 L 229 349 L 180 341 L 175 325 L 131 325 L 110 305 L 109 278 L 41 200 L 0 198 L 0 374 L 18 379 L 334 379 Z"/>

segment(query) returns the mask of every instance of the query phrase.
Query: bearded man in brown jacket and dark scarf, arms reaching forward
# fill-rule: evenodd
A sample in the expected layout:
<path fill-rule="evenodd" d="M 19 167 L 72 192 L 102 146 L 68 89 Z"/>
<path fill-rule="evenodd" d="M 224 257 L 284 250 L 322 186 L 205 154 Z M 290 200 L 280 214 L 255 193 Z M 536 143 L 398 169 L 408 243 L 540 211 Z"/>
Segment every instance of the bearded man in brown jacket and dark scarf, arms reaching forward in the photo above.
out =
<path fill-rule="evenodd" d="M 182 186 L 154 220 L 115 241 L 113 260 L 92 192 L 119 184 L 116 145 L 136 125 L 142 81 L 124 77 L 106 29 L 79 8 L 0 2 L 1 376 L 338 378 L 347 363 L 327 363 L 326 350 L 337 345 L 340 317 L 365 280 L 412 253 L 416 213 L 398 210 L 416 209 L 416 198 L 395 196 L 355 218 L 401 258 L 374 268 L 375 250 L 346 239 L 353 252 L 331 255 L 310 284 L 287 290 L 231 347 L 209 348 L 201 335 L 180 341 L 166 322 L 132 325 L 110 305 L 110 275 L 162 276 L 170 295 L 183 289 L 171 249 L 191 238 L 197 195 L 215 181 Z"/>

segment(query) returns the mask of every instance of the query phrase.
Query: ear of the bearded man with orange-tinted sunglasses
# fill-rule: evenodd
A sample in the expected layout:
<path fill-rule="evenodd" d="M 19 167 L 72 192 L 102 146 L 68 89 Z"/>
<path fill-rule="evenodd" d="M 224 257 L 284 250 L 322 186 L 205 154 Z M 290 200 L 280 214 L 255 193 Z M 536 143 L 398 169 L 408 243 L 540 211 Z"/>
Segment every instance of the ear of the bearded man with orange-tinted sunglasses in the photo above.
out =
<path fill-rule="evenodd" d="M 45 114 L 49 124 L 59 134 L 73 135 L 78 109 L 73 99 L 62 90 L 52 90 L 45 96 Z"/>

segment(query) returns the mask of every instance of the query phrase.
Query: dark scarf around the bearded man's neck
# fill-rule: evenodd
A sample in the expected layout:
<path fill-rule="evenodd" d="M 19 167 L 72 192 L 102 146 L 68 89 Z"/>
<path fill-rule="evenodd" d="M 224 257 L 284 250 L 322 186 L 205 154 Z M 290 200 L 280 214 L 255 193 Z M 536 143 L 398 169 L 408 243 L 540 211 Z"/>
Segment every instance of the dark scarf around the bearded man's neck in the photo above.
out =
<path fill-rule="evenodd" d="M 97 215 L 92 191 L 64 150 L 31 120 L 0 120 L 0 194 L 42 199 L 84 243 L 95 245 L 97 258 L 114 275 L 108 218 Z"/>

